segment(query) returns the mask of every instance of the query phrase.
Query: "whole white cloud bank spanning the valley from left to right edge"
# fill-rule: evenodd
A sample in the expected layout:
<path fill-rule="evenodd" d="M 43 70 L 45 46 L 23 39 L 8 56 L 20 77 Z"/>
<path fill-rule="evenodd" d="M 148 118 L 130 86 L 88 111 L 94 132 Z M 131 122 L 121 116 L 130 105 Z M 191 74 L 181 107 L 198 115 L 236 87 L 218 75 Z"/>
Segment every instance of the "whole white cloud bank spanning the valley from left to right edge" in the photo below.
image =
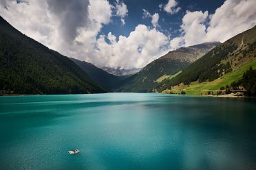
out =
<path fill-rule="evenodd" d="M 174 4 L 171 9 L 178 9 L 177 2 Z M 122 8 L 118 10 L 117 5 Z M 107 0 L 0 1 L 1 16 L 43 45 L 96 66 L 124 69 L 141 68 L 170 49 L 206 41 L 223 42 L 256 24 L 254 0 L 226 0 L 214 14 L 186 11 L 181 34 L 171 41 L 158 30 L 159 14 L 147 10 L 143 10 L 143 17 L 150 17 L 153 27 L 138 24 L 129 36 L 111 32 L 100 35 L 114 15 L 125 23 L 128 10 L 124 9 L 127 7 L 123 2 L 111 5 Z"/>

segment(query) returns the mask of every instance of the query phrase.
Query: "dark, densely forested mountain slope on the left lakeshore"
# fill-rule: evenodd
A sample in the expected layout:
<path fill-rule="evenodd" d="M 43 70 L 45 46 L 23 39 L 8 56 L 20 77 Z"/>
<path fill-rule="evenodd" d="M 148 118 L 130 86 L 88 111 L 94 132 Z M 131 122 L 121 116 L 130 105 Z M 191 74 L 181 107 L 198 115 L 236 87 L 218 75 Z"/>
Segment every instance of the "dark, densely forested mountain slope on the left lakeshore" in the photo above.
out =
<path fill-rule="evenodd" d="M 69 58 L 21 34 L 1 16 L 0 89 L 15 94 L 105 92 Z"/>

